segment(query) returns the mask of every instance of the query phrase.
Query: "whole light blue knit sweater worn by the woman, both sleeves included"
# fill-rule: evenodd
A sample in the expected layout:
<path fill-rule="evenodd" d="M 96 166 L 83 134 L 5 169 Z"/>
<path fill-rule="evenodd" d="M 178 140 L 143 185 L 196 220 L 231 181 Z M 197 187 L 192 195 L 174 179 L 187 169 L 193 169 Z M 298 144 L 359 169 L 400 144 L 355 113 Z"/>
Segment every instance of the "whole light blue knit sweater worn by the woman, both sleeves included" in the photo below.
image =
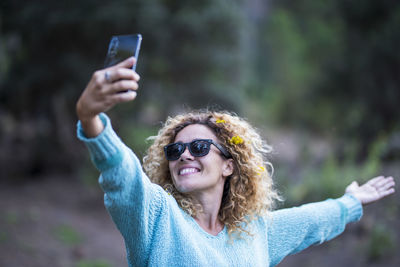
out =
<path fill-rule="evenodd" d="M 104 131 L 86 138 L 101 172 L 104 203 L 124 237 L 129 266 L 274 266 L 285 256 L 343 232 L 362 216 L 350 195 L 336 200 L 282 209 L 249 225 L 253 236 L 229 242 L 226 228 L 217 236 L 205 232 L 175 199 L 150 182 L 140 161 L 118 138 L 101 114 Z"/>

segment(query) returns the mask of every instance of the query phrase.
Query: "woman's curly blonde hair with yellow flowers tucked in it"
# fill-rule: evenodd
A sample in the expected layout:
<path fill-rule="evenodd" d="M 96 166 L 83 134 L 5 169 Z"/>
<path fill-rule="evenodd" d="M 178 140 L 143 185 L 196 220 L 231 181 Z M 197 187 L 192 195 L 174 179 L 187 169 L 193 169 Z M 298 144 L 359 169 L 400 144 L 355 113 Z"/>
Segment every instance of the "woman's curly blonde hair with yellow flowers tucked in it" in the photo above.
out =
<path fill-rule="evenodd" d="M 164 146 L 174 142 L 179 131 L 192 124 L 212 129 L 234 161 L 234 172 L 225 181 L 219 219 L 227 227 L 229 235 L 251 234 L 246 225 L 271 210 L 279 195 L 273 188 L 273 167 L 267 159 L 272 148 L 244 119 L 226 111 L 208 110 L 169 117 L 158 135 L 149 137 L 154 142 L 143 159 L 145 172 L 152 182 L 171 193 L 188 214 L 196 216 L 201 211 L 189 195 L 173 186 L 163 150 Z"/>

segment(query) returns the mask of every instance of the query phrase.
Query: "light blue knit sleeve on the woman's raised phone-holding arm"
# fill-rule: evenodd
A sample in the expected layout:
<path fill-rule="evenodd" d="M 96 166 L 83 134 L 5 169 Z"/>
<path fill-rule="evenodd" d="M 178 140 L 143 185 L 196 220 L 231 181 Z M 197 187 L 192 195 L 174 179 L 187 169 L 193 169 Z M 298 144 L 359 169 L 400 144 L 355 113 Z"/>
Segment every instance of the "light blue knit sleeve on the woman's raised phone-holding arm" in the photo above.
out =
<path fill-rule="evenodd" d="M 105 126 L 100 135 L 87 138 L 78 122 L 78 138 L 86 144 L 101 172 L 99 183 L 104 203 L 125 239 L 128 260 L 145 266 L 165 192 L 150 182 L 139 159 L 112 129 L 109 118 L 105 114 L 100 114 L 100 118 Z"/>

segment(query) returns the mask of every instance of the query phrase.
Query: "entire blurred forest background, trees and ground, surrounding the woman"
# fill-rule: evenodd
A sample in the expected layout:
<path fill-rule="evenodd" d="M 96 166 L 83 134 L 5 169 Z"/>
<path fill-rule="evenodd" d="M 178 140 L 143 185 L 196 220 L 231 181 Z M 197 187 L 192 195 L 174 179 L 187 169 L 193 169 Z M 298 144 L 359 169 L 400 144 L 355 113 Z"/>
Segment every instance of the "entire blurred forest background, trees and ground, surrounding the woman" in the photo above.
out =
<path fill-rule="evenodd" d="M 139 157 L 188 108 L 248 118 L 275 148 L 285 206 L 400 177 L 396 0 L 2 0 L 0 265 L 126 266 L 75 103 L 112 35 L 141 33 L 138 98 L 114 128 Z M 279 266 L 400 266 L 397 193 Z"/>

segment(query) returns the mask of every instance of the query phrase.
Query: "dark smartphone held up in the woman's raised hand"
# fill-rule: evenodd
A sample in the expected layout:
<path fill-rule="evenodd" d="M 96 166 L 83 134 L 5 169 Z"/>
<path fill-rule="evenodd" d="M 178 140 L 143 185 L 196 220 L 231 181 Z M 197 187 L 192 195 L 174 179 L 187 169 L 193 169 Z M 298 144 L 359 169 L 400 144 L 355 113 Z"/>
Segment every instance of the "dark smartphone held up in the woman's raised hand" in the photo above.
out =
<path fill-rule="evenodd" d="M 135 57 L 136 62 L 132 66 L 133 70 L 136 70 L 136 64 L 140 51 L 140 44 L 142 43 L 141 34 L 129 34 L 129 35 L 115 35 L 111 37 L 110 44 L 108 45 L 108 51 L 106 60 L 104 62 L 104 68 L 108 68 L 119 62 L 127 59 L 128 57 Z"/>

